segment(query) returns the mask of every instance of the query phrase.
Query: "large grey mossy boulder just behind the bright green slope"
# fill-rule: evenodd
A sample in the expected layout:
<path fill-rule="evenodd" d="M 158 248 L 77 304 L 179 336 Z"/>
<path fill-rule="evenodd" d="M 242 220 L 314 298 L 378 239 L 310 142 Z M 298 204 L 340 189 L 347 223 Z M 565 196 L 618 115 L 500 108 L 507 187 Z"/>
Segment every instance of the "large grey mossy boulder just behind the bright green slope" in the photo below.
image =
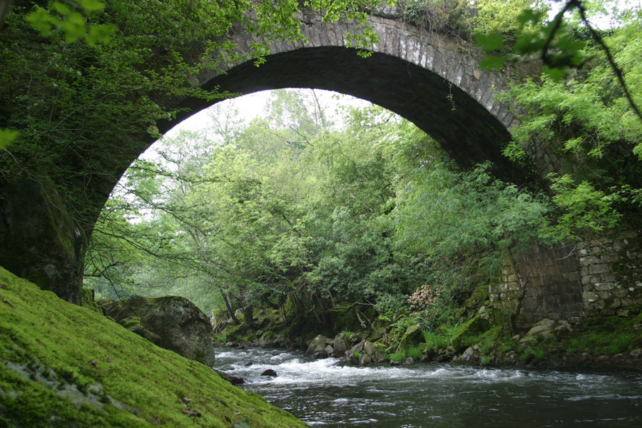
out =
<path fill-rule="evenodd" d="M 100 300 L 105 315 L 156 345 L 212 367 L 214 347 L 210 320 L 179 296 Z"/>

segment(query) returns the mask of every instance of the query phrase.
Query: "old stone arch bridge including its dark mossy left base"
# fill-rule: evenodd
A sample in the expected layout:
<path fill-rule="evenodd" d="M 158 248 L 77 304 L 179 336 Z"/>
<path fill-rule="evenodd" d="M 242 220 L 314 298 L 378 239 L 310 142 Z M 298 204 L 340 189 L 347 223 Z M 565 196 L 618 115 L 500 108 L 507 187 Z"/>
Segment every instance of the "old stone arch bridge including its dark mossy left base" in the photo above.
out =
<path fill-rule="evenodd" d="M 354 49 L 345 48 L 345 34 L 355 24 L 323 23 L 312 11 L 303 11 L 300 19 L 307 42 L 276 41 L 259 67 L 240 61 L 230 64 L 226 73 L 190 76 L 190 83 L 233 93 L 287 87 L 347 93 L 412 121 L 464 168 L 491 161 L 504 180 L 522 180 L 521 171 L 501 155 L 516 119 L 494 100 L 494 93 L 504 91 L 509 78 L 506 73 L 482 70 L 479 49 L 409 25 L 393 11 L 369 16 L 367 24 L 377 32 L 379 43 L 370 57 L 361 58 Z M 230 36 L 240 54 L 250 52 L 252 36 L 235 30 Z M 196 98 L 149 96 L 163 108 L 185 108 L 174 120 L 159 122 L 161 132 L 211 104 Z M 79 207 L 69 207 L 58 196 L 54 184 L 59 183 L 47 188 L 23 180 L 1 188 L 0 265 L 69 302 L 80 302 L 83 254 L 93 223 L 118 179 L 153 138 L 133 136 L 133 141 L 111 143 L 108 152 L 118 156 L 86 159 L 103 165 L 103 174 L 83 184 L 87 195 L 83 203 L 88 200 L 93 207 L 83 223 L 66 214 Z"/>

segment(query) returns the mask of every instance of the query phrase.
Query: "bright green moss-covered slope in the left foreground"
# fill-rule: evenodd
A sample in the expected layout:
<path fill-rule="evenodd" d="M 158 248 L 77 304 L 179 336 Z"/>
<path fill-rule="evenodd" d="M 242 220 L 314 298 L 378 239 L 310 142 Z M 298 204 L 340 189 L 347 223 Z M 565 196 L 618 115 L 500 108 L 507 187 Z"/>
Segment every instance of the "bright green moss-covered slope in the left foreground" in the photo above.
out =
<path fill-rule="evenodd" d="M 0 267 L 0 427 L 304 427 Z"/>

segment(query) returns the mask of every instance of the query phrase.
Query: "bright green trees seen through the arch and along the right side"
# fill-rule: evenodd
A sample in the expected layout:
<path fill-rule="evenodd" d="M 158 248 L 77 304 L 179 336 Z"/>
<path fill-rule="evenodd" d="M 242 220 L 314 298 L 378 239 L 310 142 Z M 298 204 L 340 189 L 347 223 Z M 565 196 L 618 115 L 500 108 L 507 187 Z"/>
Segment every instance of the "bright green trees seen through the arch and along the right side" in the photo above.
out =
<path fill-rule="evenodd" d="M 497 31 L 491 4 L 457 22 Z M 603 39 L 638 100 L 640 16 L 616 19 Z M 487 165 L 459 170 L 380 108 L 348 108 L 336 126 L 315 93 L 280 91 L 264 118 L 219 111 L 210 132 L 165 138 L 156 161 L 137 161 L 98 221 L 86 283 L 111 297 L 186 295 L 248 324 L 260 307 L 323 320 L 344 302 L 427 330 L 461 320 L 521 245 L 590 240 L 636 221 L 642 126 L 603 51 L 573 31 L 583 68 L 509 94 L 523 121 L 506 155 L 528 167 L 529 145 L 551 147 L 565 160 L 553 193 L 501 183 Z"/>

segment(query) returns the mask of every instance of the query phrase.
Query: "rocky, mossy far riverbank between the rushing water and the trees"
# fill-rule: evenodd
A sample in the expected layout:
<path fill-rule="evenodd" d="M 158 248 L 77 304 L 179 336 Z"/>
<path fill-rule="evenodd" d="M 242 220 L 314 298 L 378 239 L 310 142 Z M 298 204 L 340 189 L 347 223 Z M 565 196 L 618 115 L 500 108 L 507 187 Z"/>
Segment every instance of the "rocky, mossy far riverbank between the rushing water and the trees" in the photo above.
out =
<path fill-rule="evenodd" d="M 373 322 L 362 325 L 356 317 L 350 319 L 350 313 L 357 312 L 344 311 L 332 330 L 323 331 L 315 323 L 285 322 L 287 314 L 266 309 L 257 313 L 251 326 L 230 326 L 215 338 L 220 345 L 307 350 L 315 357 L 340 357 L 352 365 L 452 362 L 541 368 L 642 367 L 642 311 L 638 308 L 630 308 L 627 317 L 588 318 L 576 325 L 541 320 L 519 335 L 512 335 L 501 317 L 474 316 L 467 322 L 425 331 L 412 316 L 394 322 L 371 318 Z M 367 319 L 364 315 L 362 320 Z"/>

